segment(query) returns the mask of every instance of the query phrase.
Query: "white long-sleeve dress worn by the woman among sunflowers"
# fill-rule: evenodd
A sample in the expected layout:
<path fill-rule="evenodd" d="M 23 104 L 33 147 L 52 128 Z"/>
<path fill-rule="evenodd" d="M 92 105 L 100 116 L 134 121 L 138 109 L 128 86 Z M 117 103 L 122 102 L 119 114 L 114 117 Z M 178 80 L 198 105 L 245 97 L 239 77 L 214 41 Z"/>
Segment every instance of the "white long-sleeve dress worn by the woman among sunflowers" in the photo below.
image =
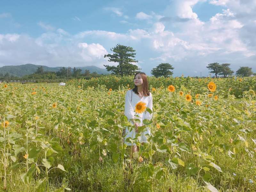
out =
<path fill-rule="evenodd" d="M 143 120 L 144 119 L 151 119 L 153 114 L 148 113 L 148 111 L 145 111 L 143 113 L 140 114 L 136 114 L 135 111 L 135 106 L 138 102 L 144 102 L 146 103 L 146 106 L 148 108 L 151 109 L 151 111 L 153 111 L 153 98 L 152 98 L 152 94 L 151 92 L 149 92 L 149 96 L 143 96 L 142 98 L 139 97 L 139 95 L 137 95 L 135 92 L 133 92 L 132 90 L 129 90 L 126 92 L 125 95 L 125 106 L 124 106 L 124 114 L 125 116 L 128 118 L 129 122 L 133 125 L 134 123 L 131 121 L 132 119 L 135 118 L 135 115 L 139 116 L 140 119 L 140 123 L 139 126 L 143 125 Z M 138 118 L 138 117 L 136 117 Z M 147 138 L 145 137 L 146 134 L 150 135 L 150 130 L 148 129 L 148 127 L 146 128 L 146 130 L 144 132 L 141 133 L 141 136 L 138 137 L 140 142 L 147 142 Z M 128 146 L 131 146 L 131 143 L 127 143 L 125 142 L 125 140 L 128 137 L 131 137 L 132 139 L 135 138 L 136 132 L 134 131 L 134 129 L 131 130 L 131 132 L 128 130 L 128 127 L 126 127 L 125 129 L 125 137 L 124 137 L 124 143 Z M 133 145 L 136 145 L 135 143 L 133 143 Z"/>

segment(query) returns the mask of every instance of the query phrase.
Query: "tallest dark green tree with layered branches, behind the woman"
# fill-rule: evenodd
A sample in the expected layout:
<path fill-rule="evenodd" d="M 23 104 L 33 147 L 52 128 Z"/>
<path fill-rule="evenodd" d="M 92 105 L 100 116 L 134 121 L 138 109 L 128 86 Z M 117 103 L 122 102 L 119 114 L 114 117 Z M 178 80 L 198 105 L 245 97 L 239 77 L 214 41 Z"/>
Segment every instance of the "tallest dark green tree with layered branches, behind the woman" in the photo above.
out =
<path fill-rule="evenodd" d="M 107 71 L 113 71 L 116 75 L 134 75 L 136 72 L 141 70 L 138 66 L 131 63 L 138 62 L 135 58 L 135 50 L 132 47 L 117 44 L 116 47 L 110 49 L 113 54 L 104 55 L 108 57 L 108 61 L 118 63 L 117 66 L 104 65 Z"/>

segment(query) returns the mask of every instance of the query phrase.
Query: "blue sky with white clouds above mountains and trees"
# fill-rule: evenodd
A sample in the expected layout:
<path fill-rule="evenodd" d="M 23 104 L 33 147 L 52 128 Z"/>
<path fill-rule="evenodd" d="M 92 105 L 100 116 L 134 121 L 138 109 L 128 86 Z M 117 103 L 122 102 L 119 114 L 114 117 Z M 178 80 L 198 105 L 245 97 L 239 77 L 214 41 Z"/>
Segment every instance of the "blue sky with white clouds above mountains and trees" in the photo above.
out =
<path fill-rule="evenodd" d="M 256 72 L 255 12 L 253 0 L 1 2 L 0 67 L 104 68 L 119 43 L 148 75 L 161 62 L 174 76 L 207 76 L 212 62 Z"/>

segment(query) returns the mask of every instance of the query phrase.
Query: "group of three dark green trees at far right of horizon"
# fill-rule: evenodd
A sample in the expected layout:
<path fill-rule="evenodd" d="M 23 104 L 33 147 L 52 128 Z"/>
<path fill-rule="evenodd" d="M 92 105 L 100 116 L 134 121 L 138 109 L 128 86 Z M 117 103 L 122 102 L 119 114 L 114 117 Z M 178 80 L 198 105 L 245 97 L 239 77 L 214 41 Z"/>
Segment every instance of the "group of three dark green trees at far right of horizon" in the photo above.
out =
<path fill-rule="evenodd" d="M 229 66 L 229 63 L 223 63 L 221 65 L 219 63 L 210 63 L 206 68 L 210 70 L 210 73 L 215 74 L 215 77 L 217 77 L 217 75 L 223 75 L 226 78 L 227 76 L 233 75 L 234 73 L 234 71 L 232 71 Z M 248 77 L 252 74 L 252 68 L 249 67 L 240 67 L 236 71 L 237 76 Z"/>

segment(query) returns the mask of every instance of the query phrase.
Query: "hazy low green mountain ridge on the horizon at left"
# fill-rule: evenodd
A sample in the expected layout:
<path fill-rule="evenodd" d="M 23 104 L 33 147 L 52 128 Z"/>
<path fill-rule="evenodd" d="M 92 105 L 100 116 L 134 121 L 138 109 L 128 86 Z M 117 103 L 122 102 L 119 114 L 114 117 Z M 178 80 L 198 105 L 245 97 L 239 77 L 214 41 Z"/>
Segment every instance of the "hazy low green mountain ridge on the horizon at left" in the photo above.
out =
<path fill-rule="evenodd" d="M 34 64 L 26 64 L 26 65 L 9 65 L 9 66 L 3 66 L 0 67 L 0 74 L 2 73 L 3 75 L 5 73 L 9 73 L 10 75 L 13 76 L 24 76 L 24 75 L 30 75 L 36 72 L 37 68 L 41 67 L 41 65 L 34 65 Z M 61 67 L 47 67 L 44 66 L 44 71 L 54 71 L 57 72 L 60 70 Z M 85 69 L 90 70 L 90 73 L 96 72 L 98 74 L 109 74 L 106 69 L 103 68 L 98 68 L 96 66 L 86 66 L 86 67 L 76 67 L 77 69 L 82 69 L 82 73 L 84 73 Z"/>

